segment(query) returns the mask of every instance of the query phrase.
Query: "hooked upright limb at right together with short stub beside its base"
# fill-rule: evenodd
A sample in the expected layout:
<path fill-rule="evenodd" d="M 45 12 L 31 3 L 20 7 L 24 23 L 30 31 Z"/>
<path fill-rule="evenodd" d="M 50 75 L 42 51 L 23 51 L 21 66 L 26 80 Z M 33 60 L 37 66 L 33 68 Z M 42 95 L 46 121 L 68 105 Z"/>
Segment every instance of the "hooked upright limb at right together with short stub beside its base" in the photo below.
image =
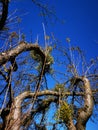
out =
<path fill-rule="evenodd" d="M 75 84 L 80 81 L 83 82 L 84 87 L 84 106 L 78 110 L 76 125 L 71 118 L 65 122 L 68 130 L 85 130 L 86 123 L 93 112 L 94 101 L 90 82 L 86 77 L 75 77 Z"/>

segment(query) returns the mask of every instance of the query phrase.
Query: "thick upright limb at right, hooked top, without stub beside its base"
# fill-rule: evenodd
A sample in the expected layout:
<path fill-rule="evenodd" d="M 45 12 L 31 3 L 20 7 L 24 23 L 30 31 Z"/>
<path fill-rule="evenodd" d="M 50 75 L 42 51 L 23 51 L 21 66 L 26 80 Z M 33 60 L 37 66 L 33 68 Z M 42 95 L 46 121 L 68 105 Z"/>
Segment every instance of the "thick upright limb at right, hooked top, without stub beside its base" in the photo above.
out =
<path fill-rule="evenodd" d="M 86 77 L 78 78 L 78 80 L 84 83 L 84 107 L 79 109 L 77 117 L 77 130 L 85 130 L 86 123 L 93 112 L 93 94 L 90 86 L 90 82 Z"/>

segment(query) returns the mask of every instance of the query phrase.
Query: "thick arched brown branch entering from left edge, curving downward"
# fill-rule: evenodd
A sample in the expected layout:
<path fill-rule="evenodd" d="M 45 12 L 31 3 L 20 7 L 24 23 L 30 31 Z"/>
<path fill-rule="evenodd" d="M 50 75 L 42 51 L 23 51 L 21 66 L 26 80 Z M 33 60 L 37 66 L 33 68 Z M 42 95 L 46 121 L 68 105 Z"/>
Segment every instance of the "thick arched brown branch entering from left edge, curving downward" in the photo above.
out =
<path fill-rule="evenodd" d="M 37 44 L 26 44 L 25 42 L 21 42 L 16 48 L 6 51 L 0 54 L 0 66 L 5 64 L 8 61 L 11 61 L 13 58 L 18 56 L 20 53 L 24 51 L 35 50 L 38 54 L 45 59 L 45 54 L 41 50 L 41 48 Z"/>

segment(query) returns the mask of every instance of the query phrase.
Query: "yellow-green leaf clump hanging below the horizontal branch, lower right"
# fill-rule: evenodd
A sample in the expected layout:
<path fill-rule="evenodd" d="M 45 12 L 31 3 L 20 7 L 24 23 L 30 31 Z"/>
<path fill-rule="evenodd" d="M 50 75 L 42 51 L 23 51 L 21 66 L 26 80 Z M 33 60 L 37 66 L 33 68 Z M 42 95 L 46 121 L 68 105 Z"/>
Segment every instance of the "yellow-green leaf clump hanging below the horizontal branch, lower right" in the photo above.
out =
<path fill-rule="evenodd" d="M 61 102 L 60 108 L 56 112 L 56 120 L 67 122 L 72 117 L 73 110 L 65 101 Z"/>

